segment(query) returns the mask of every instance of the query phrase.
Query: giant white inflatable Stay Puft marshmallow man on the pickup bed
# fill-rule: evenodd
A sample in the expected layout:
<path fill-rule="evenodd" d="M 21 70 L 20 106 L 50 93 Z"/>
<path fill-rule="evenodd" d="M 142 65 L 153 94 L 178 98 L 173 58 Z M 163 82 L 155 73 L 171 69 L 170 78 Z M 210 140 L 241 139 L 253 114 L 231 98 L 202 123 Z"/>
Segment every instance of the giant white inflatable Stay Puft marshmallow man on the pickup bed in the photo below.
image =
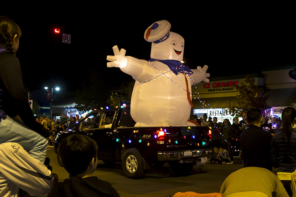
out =
<path fill-rule="evenodd" d="M 107 56 L 108 67 L 120 69 L 136 80 L 131 97 L 131 116 L 135 126 L 195 126 L 189 122 L 191 86 L 209 82 L 207 66 L 190 70 L 181 61 L 184 39 L 170 32 L 166 20 L 153 23 L 144 38 L 152 42 L 151 59 L 125 56 L 126 51 L 113 47 L 115 56 Z"/>

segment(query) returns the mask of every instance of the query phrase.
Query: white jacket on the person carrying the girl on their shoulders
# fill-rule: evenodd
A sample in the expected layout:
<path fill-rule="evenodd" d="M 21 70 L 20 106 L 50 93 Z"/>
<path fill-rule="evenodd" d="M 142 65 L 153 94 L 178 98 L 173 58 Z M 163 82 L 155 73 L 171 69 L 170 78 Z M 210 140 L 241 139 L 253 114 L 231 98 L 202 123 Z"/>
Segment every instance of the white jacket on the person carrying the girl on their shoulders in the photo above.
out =
<path fill-rule="evenodd" d="M 18 197 L 20 188 L 31 196 L 46 196 L 51 191 L 52 183 L 52 172 L 31 157 L 20 144 L 0 144 L 1 197 Z"/>

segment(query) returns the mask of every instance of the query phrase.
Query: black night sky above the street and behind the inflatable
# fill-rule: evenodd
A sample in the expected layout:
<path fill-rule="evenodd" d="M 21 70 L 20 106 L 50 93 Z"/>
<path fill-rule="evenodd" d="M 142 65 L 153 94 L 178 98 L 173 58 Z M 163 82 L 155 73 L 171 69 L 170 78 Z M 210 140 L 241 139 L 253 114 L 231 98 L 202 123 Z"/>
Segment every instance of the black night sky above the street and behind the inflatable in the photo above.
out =
<path fill-rule="evenodd" d="M 144 32 L 158 20 L 168 20 L 170 31 L 184 38 L 185 65 L 196 69 L 207 64 L 211 77 L 296 64 L 295 15 L 288 10 L 279 13 L 265 6 L 236 11 L 219 6 L 179 11 L 176 6 L 163 13 L 158 11 L 161 8 L 108 9 L 1 12 L 22 30 L 16 55 L 25 86 L 33 90 L 52 83 L 75 89 L 94 68 L 104 73 L 106 83 L 120 86 L 127 74 L 107 68 L 106 56 L 113 55 L 112 47 L 118 45 L 127 56 L 149 60 L 151 43 L 144 40 Z M 71 44 L 61 43 L 54 28 L 61 30 L 60 37 L 71 34 Z"/>

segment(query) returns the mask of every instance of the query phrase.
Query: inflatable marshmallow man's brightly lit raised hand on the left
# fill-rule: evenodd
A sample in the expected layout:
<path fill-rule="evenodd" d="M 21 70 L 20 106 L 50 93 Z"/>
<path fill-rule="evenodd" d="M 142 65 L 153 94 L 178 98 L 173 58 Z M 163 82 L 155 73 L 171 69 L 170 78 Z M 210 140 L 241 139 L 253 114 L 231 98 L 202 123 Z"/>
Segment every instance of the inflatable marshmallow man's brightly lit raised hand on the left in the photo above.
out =
<path fill-rule="evenodd" d="M 115 45 L 113 47 L 113 52 L 115 56 L 107 56 L 107 60 L 111 61 L 107 63 L 107 67 L 124 68 L 128 62 L 128 59 L 125 57 L 126 50 L 122 48 L 119 52 L 118 46 Z"/>

